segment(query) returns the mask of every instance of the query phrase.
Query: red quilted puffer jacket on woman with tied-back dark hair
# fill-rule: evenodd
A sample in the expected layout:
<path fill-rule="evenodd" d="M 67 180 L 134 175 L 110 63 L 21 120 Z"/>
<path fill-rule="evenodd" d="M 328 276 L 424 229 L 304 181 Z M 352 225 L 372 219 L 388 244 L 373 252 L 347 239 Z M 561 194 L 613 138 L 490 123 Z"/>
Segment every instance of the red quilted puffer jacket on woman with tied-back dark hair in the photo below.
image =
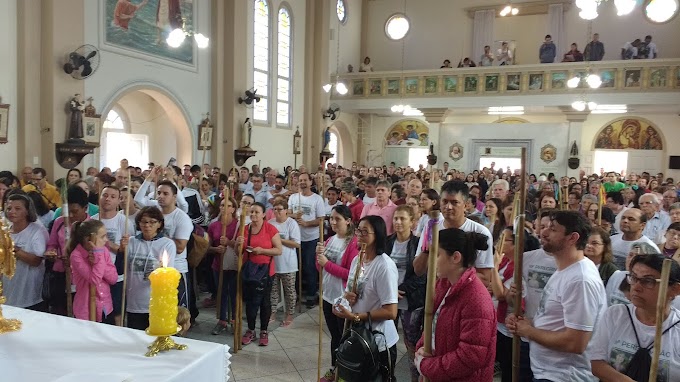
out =
<path fill-rule="evenodd" d="M 435 312 L 449 287 L 448 280 L 437 280 Z M 432 382 L 493 381 L 496 312 L 475 268 L 466 270 L 453 285 L 435 330 L 434 354 L 420 364 L 423 376 Z M 423 341 L 418 341 L 416 349 L 423 346 Z"/>

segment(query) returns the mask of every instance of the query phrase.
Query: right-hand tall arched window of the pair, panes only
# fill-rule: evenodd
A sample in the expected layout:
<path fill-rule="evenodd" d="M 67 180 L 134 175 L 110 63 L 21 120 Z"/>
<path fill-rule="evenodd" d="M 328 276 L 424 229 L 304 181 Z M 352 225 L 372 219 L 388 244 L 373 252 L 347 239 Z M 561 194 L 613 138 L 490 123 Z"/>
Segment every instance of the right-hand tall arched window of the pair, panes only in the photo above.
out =
<path fill-rule="evenodd" d="M 290 126 L 291 19 L 285 7 L 279 9 L 277 39 L 276 124 Z"/>

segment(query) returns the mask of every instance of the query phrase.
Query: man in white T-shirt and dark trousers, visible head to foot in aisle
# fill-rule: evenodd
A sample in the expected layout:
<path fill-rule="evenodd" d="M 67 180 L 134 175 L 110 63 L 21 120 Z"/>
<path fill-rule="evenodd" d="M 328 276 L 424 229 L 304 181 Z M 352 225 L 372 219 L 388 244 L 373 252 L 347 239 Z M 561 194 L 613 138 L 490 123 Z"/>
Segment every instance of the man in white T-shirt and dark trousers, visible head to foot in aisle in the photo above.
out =
<path fill-rule="evenodd" d="M 316 244 L 319 242 L 319 224 L 326 216 L 324 200 L 312 192 L 311 178 L 306 172 L 298 177 L 300 192 L 288 199 L 291 217 L 300 226 L 300 252 L 302 256 L 302 277 L 307 285 L 306 305 L 311 308 L 318 302 L 319 275 L 316 270 Z"/>

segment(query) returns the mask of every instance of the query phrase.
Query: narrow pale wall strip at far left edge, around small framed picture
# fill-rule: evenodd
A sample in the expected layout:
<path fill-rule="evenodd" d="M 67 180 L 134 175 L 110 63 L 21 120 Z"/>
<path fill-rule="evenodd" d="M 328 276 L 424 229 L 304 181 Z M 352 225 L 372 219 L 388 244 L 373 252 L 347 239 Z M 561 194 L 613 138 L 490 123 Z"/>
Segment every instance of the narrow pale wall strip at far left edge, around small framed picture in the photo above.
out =
<path fill-rule="evenodd" d="M 0 144 L 0 169 L 17 173 L 17 0 L 0 0 L 0 103 L 9 104 L 8 143 Z M 36 126 L 37 128 L 37 126 Z M 30 163 L 26 163 L 29 164 Z"/>

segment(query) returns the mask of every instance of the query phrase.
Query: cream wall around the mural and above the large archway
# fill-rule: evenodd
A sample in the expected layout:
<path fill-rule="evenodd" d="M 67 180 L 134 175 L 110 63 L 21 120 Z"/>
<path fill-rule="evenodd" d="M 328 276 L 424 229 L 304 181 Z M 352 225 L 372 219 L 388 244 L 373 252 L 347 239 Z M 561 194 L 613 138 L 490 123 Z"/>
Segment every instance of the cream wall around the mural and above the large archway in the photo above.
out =
<path fill-rule="evenodd" d="M 204 34 L 210 34 L 210 0 L 194 0 L 196 27 Z M 210 48 L 195 51 L 196 69 L 176 67 L 153 61 L 150 58 L 133 57 L 111 52 L 100 41 L 99 28 L 103 27 L 103 1 L 85 2 L 85 43 L 98 46 L 101 51 L 97 72 L 85 80 L 85 96 L 94 98 L 99 113 L 104 114 L 122 96 L 121 91 L 136 85 L 148 85 L 161 89 L 178 103 L 187 124 L 191 126 L 190 140 L 183 142 L 192 148 L 193 160 L 200 160 L 197 151 L 197 126 L 210 111 Z M 74 47 L 75 48 L 75 47 Z M 166 159 L 167 160 L 167 159 Z M 179 158 L 178 158 L 179 160 Z"/>

